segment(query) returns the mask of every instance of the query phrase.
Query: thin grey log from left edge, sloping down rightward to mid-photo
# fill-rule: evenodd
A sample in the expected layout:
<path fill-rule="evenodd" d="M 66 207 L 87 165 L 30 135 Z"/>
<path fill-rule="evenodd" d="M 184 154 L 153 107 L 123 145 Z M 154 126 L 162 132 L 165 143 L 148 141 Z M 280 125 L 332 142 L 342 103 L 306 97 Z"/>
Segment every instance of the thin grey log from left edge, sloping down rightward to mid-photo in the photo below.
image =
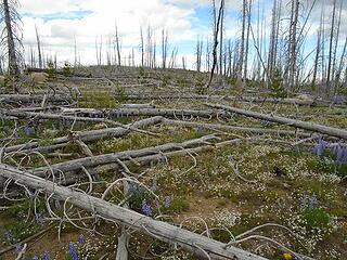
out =
<path fill-rule="evenodd" d="M 54 119 L 54 120 L 70 120 L 70 121 L 94 121 L 94 122 L 105 122 L 113 126 L 121 127 L 127 130 L 145 133 L 149 135 L 159 136 L 157 133 L 152 133 L 149 131 L 140 130 L 134 127 L 127 127 L 120 122 L 116 122 L 105 118 L 89 118 L 89 117 L 77 117 L 77 116 L 64 116 L 64 115 L 55 115 L 55 114 L 48 114 L 48 113 L 30 113 L 30 112 L 15 112 L 15 110 L 4 110 L 0 109 L 0 114 L 16 116 L 18 118 L 36 118 L 36 119 Z"/>

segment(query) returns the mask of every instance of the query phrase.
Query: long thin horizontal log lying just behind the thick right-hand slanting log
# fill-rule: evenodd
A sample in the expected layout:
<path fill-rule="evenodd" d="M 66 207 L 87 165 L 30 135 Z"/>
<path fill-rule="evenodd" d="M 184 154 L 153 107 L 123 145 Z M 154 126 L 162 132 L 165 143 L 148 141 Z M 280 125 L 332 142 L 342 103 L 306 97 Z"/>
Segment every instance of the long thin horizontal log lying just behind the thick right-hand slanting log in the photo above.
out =
<path fill-rule="evenodd" d="M 118 95 L 115 98 L 126 100 L 224 100 L 224 101 L 244 101 L 255 103 L 280 103 L 280 104 L 296 104 L 296 105 L 312 105 L 314 100 L 299 100 L 299 99 L 272 99 L 272 98 L 237 98 L 234 95 L 184 95 L 184 94 L 162 94 L 162 95 Z"/>

